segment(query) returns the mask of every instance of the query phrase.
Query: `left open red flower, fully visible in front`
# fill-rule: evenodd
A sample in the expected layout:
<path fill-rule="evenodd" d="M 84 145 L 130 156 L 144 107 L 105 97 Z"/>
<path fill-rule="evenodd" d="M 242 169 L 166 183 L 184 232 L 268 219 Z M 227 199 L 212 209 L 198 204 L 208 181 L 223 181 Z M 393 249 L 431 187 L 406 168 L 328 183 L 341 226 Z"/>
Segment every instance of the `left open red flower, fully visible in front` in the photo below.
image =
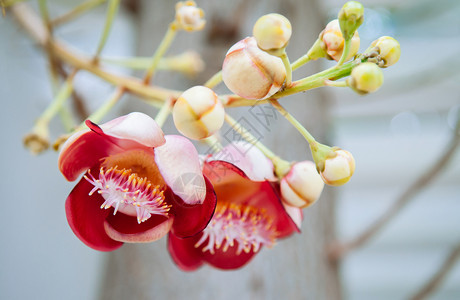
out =
<path fill-rule="evenodd" d="M 111 251 L 123 242 L 155 241 L 170 230 L 186 237 L 206 227 L 216 199 L 189 140 L 164 136 L 142 113 L 86 124 L 89 130 L 72 135 L 59 155 L 67 180 L 84 173 L 65 204 L 83 243 Z"/>

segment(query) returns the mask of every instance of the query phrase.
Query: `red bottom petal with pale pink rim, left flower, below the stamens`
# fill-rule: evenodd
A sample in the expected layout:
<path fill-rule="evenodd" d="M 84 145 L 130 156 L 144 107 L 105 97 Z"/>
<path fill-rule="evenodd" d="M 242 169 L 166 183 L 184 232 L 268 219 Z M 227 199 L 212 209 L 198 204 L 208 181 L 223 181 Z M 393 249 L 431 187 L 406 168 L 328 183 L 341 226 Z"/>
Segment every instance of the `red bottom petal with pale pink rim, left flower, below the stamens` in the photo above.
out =
<path fill-rule="evenodd" d="M 150 243 L 165 236 L 174 218 L 155 218 L 138 224 L 137 218 L 118 212 L 104 222 L 104 229 L 112 239 L 125 243 Z M 116 229 L 115 229 L 116 228 Z"/>

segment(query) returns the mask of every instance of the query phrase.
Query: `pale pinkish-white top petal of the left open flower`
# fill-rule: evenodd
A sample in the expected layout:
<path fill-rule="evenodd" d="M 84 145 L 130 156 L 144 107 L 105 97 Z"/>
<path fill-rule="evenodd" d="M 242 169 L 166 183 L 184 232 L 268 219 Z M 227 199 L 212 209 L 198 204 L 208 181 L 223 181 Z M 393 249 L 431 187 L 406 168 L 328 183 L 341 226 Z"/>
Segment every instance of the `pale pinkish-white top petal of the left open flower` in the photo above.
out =
<path fill-rule="evenodd" d="M 145 147 L 158 147 L 165 143 L 163 131 L 157 123 L 140 112 L 113 119 L 102 124 L 100 128 L 108 136 L 134 141 Z"/>

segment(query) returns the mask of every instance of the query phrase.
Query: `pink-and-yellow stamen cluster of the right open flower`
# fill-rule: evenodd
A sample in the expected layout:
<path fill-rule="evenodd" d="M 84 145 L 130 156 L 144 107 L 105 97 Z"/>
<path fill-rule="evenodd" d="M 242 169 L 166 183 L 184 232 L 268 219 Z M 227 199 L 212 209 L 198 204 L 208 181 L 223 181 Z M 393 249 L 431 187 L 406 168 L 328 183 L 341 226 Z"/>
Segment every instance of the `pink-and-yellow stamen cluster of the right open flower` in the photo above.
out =
<path fill-rule="evenodd" d="M 237 255 L 258 252 L 262 246 L 272 247 L 278 235 L 265 210 L 236 204 L 218 205 L 202 233 L 196 248 L 204 245 L 203 252 L 214 254 L 216 249 L 226 252 L 237 247 Z"/>

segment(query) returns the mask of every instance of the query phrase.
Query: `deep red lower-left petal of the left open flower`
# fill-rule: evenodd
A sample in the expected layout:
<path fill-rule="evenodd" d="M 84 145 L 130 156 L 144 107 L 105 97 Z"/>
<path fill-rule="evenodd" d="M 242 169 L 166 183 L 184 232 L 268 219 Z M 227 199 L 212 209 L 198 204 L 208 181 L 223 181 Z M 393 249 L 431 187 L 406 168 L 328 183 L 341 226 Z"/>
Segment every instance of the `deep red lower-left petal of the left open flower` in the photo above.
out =
<path fill-rule="evenodd" d="M 85 179 L 74 187 L 65 203 L 67 221 L 75 235 L 87 246 L 99 251 L 112 251 L 123 245 L 111 239 L 104 230 L 109 210 L 101 209 L 103 198 L 88 193 L 94 186 Z"/>

